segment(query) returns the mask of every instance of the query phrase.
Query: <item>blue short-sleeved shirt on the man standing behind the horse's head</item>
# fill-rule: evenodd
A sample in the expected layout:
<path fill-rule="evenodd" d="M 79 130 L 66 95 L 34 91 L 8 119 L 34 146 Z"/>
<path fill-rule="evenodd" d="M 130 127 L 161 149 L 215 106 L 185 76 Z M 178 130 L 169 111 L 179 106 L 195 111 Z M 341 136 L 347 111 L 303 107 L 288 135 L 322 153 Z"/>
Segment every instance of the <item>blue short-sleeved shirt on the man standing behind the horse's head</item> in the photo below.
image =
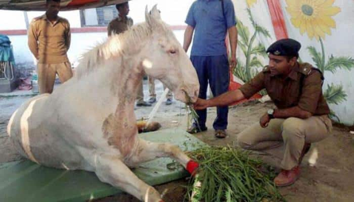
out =
<path fill-rule="evenodd" d="M 234 5 L 224 0 L 223 14 L 220 0 L 197 0 L 189 9 L 186 23 L 194 27 L 192 56 L 226 55 L 226 32 L 236 25 Z"/>

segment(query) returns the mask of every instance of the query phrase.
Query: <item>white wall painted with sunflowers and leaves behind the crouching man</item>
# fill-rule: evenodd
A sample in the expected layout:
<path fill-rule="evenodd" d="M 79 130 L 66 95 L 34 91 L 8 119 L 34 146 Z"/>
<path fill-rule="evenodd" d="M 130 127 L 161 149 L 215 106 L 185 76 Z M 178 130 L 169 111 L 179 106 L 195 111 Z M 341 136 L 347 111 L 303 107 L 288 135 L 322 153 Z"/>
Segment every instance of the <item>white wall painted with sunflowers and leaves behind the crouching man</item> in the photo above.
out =
<path fill-rule="evenodd" d="M 240 63 L 235 74 L 242 80 L 247 80 L 268 63 L 264 48 L 277 39 L 269 5 L 274 6 L 272 2 L 280 3 L 278 6 L 283 14 L 284 28 L 288 37 L 302 44 L 300 60 L 311 63 L 324 72 L 323 91 L 335 115 L 332 119 L 353 125 L 354 1 L 233 0 L 233 2 L 239 19 L 237 57 Z M 245 49 L 249 46 L 250 52 L 249 49 Z M 248 63 L 247 57 L 250 59 Z"/>

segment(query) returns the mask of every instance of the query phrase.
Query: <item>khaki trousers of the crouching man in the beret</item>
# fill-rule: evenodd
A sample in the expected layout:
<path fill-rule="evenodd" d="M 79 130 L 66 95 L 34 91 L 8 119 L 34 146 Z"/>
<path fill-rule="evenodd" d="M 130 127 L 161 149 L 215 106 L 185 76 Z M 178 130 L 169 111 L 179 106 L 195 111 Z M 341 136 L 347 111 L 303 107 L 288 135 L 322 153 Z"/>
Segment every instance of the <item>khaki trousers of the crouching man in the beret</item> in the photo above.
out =
<path fill-rule="evenodd" d="M 266 150 L 284 145 L 281 168 L 290 170 L 297 166 L 304 143 L 318 142 L 332 131 L 332 123 L 327 115 L 308 119 L 272 119 L 266 128 L 259 123 L 238 135 L 238 144 L 245 149 Z"/>

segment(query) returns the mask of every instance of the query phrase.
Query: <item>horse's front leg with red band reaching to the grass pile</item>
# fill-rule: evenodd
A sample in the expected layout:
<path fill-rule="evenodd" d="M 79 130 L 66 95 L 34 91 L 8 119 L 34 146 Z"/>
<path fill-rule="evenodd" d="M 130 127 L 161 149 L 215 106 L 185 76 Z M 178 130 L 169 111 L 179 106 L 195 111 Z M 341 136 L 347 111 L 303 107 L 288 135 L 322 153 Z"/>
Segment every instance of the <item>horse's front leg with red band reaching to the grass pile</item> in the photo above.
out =
<path fill-rule="evenodd" d="M 140 138 L 137 140 L 137 144 L 126 163 L 131 166 L 137 166 L 160 157 L 170 157 L 174 159 L 183 165 L 191 174 L 194 174 L 194 171 L 199 166 L 198 163 L 189 158 L 179 146 L 169 143 L 145 141 Z"/>

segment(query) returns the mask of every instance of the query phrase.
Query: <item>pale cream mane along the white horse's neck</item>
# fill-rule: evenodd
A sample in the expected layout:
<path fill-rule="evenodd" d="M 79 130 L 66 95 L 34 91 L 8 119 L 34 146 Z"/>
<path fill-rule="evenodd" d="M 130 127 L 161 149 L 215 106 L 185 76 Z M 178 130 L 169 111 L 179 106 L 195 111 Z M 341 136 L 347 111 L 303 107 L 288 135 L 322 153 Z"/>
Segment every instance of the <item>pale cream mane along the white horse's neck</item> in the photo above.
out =
<path fill-rule="evenodd" d="M 123 33 L 108 37 L 107 41 L 98 44 L 82 55 L 77 66 L 76 77 L 80 78 L 94 68 L 103 67 L 103 65 L 99 64 L 104 60 L 112 57 L 123 57 L 125 54 L 134 51 L 133 49 L 140 49 L 139 46 L 143 44 L 143 41 L 151 37 L 155 29 L 164 32 L 168 31 L 167 25 L 161 21 L 161 26 L 156 28 L 151 28 L 148 23 L 141 23 L 132 26 Z"/>

